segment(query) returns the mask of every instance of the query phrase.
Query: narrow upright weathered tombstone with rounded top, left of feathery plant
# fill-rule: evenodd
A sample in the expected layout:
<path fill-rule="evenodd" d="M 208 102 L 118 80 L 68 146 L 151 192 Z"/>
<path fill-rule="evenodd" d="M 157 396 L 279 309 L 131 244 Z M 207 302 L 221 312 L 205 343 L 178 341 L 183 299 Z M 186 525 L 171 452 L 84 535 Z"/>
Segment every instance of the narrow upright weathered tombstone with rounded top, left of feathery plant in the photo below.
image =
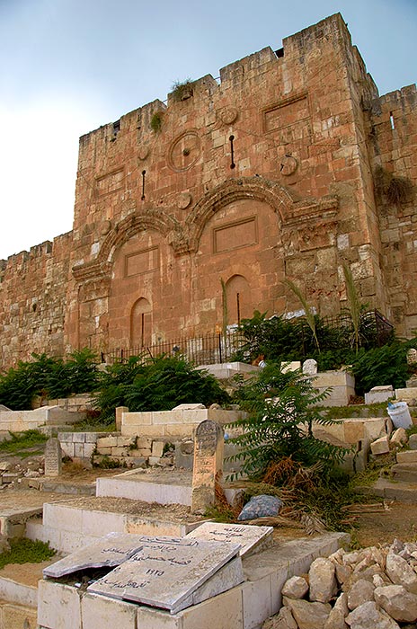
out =
<path fill-rule="evenodd" d="M 215 503 L 216 480 L 223 472 L 223 429 L 216 421 L 205 420 L 198 425 L 194 438 L 192 467 L 192 513 L 204 513 Z"/>

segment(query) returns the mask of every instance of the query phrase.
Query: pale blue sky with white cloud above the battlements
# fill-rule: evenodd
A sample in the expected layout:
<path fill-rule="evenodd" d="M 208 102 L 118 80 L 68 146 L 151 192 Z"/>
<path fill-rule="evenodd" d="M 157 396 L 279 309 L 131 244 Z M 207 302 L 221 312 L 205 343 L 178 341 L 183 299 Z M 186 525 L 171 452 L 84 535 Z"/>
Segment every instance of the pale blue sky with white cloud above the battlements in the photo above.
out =
<path fill-rule="evenodd" d="M 415 83 L 417 0 L 0 0 L 0 259 L 71 229 L 79 136 L 338 11 L 379 93 Z"/>

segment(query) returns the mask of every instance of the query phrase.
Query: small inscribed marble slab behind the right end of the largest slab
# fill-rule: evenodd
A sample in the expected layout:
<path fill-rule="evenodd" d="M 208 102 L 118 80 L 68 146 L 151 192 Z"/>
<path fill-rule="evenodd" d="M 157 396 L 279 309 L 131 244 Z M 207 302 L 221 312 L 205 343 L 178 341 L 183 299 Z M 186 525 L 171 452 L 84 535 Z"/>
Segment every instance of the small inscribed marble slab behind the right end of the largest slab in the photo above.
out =
<path fill-rule="evenodd" d="M 208 542 L 226 542 L 240 544 L 240 555 L 253 554 L 272 545 L 273 527 L 253 527 L 252 525 L 221 524 L 204 522 L 194 528 L 186 537 L 207 540 Z"/>

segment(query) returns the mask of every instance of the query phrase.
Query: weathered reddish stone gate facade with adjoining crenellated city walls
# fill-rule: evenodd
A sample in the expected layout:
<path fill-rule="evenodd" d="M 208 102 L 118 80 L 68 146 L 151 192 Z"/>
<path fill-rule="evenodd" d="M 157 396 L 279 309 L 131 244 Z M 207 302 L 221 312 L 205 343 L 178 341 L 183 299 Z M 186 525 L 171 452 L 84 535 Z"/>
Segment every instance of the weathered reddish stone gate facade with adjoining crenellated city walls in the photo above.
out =
<path fill-rule="evenodd" d="M 81 137 L 73 231 L 1 267 L 4 365 L 297 310 L 286 278 L 336 314 L 342 261 L 410 334 L 416 145 L 415 85 L 379 97 L 340 14 Z"/>

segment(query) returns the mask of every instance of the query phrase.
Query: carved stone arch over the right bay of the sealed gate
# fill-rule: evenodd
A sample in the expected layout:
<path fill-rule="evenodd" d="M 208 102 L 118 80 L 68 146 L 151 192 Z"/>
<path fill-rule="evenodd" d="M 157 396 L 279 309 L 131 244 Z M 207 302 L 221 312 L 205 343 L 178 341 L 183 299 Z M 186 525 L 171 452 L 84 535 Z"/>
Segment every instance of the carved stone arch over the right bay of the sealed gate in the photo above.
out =
<path fill-rule="evenodd" d="M 206 194 L 186 219 L 186 232 L 190 235 L 190 248 L 199 248 L 200 237 L 211 217 L 221 208 L 240 199 L 254 199 L 267 203 L 276 213 L 281 225 L 293 206 L 293 199 L 279 183 L 262 177 L 228 180 Z"/>

